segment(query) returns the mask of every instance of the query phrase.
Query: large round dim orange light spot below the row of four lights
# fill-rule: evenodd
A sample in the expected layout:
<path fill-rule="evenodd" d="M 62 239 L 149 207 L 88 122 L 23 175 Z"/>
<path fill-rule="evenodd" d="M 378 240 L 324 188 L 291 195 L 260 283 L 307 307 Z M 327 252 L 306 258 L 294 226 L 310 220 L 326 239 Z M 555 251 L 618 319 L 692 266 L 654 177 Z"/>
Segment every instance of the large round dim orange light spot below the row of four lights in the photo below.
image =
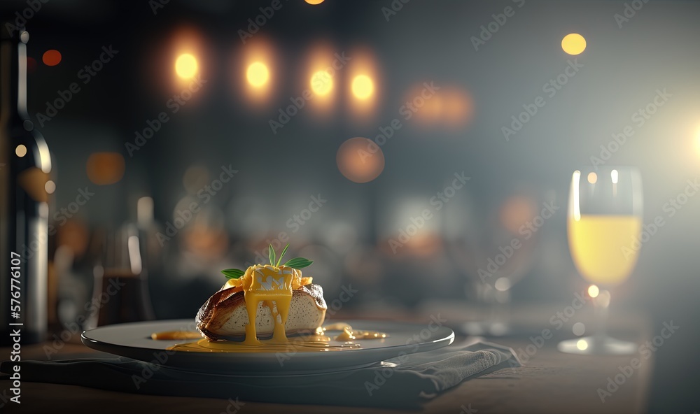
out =
<path fill-rule="evenodd" d="M 335 160 L 340 173 L 355 183 L 367 183 L 384 170 L 384 152 L 367 138 L 350 138 L 340 145 Z"/>

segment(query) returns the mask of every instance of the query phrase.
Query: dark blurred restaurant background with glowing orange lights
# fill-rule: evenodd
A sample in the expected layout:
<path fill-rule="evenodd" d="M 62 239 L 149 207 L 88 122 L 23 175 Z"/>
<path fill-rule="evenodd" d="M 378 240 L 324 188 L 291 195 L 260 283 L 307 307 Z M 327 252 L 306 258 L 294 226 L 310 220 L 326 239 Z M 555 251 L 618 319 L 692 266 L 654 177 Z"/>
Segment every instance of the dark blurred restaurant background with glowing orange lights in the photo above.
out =
<path fill-rule="evenodd" d="M 304 275 L 329 302 L 358 290 L 344 310 L 567 302 L 588 286 L 567 246 L 571 173 L 629 165 L 643 222 L 664 224 L 612 307 L 687 327 L 657 369 L 689 369 L 700 3 L 29 3 L 0 8 L 31 35 L 56 323 L 86 310 L 105 241 L 128 254 L 130 235 L 139 314 L 158 319 L 195 315 L 221 269 L 269 243 L 314 260 Z M 689 396 L 654 383 L 652 401 L 674 392 Z"/>

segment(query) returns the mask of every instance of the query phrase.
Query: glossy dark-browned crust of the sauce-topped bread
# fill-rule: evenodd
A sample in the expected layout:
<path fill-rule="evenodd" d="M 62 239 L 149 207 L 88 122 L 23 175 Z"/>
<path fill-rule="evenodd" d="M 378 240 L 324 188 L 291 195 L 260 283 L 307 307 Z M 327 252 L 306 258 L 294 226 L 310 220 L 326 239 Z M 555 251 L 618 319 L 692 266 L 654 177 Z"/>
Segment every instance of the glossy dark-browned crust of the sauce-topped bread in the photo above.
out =
<path fill-rule="evenodd" d="M 229 310 L 233 310 L 238 306 L 245 306 L 246 299 L 244 292 L 232 293 L 231 291 L 234 289 L 234 287 L 230 287 L 211 295 L 211 297 L 204 302 L 204 305 L 202 305 L 200 310 L 197 312 L 195 323 L 197 323 L 197 330 L 200 331 L 200 334 L 202 334 L 204 338 L 207 338 L 210 341 L 217 341 L 224 338 L 221 335 L 207 330 L 207 326 L 209 325 L 209 322 L 211 322 L 211 318 L 214 316 L 214 310 L 216 310 L 216 313 L 227 313 Z M 321 286 L 311 283 L 311 285 L 304 285 L 299 289 L 292 290 L 293 297 L 304 294 L 313 298 L 314 301 L 316 301 L 316 306 L 318 306 L 319 309 L 328 310 L 328 306 L 325 304 L 325 299 L 323 299 L 323 289 Z M 288 331 L 287 333 L 300 334 L 306 333 L 306 331 Z"/>

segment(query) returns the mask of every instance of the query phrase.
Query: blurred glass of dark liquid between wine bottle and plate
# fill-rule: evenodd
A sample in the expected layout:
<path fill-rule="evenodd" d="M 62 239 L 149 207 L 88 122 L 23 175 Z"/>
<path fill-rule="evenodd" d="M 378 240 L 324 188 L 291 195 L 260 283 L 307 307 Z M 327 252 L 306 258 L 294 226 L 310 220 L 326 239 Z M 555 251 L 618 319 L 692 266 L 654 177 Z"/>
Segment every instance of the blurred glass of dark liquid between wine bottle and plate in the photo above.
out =
<path fill-rule="evenodd" d="M 136 224 L 98 231 L 102 254 L 93 268 L 92 301 L 87 327 L 153 320 L 141 240 Z"/>

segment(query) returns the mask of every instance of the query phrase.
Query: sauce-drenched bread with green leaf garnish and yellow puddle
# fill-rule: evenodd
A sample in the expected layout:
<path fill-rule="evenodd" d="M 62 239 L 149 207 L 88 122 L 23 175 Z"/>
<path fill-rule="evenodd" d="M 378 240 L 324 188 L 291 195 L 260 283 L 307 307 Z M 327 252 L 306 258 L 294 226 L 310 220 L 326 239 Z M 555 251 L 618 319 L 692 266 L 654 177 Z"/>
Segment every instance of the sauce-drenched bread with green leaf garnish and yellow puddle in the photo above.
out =
<path fill-rule="evenodd" d="M 302 276 L 310 260 L 303 257 L 281 264 L 289 245 L 276 258 L 269 246 L 269 264 L 255 264 L 246 271 L 226 269 L 228 281 L 197 312 L 200 341 L 170 347 L 191 352 L 337 351 L 360 348 L 356 340 L 381 339 L 386 334 L 355 331 L 342 322 L 322 327 L 328 306 L 323 288 Z M 339 331 L 334 338 L 327 334 Z M 173 339 L 156 333 L 153 339 Z M 181 334 L 180 338 L 192 338 Z"/>

